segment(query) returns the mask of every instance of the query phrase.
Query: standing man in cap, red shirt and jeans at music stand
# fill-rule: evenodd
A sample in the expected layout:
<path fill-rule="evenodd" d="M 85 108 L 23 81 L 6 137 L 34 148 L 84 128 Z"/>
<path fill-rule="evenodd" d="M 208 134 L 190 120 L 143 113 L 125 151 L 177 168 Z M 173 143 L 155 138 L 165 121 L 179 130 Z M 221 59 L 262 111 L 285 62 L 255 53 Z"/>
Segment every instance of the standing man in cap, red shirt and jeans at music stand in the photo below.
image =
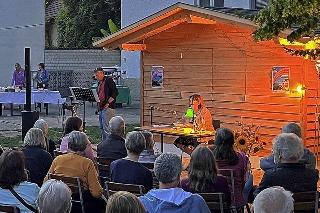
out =
<path fill-rule="evenodd" d="M 116 88 L 115 82 L 111 77 L 106 77 L 101 67 L 94 71 L 94 78 L 98 83 L 98 96 L 100 103 L 98 103 L 98 115 L 100 122 L 100 130 L 102 132 L 102 141 L 104 141 L 109 132 L 109 121 L 115 114 L 115 101 L 119 91 Z"/>

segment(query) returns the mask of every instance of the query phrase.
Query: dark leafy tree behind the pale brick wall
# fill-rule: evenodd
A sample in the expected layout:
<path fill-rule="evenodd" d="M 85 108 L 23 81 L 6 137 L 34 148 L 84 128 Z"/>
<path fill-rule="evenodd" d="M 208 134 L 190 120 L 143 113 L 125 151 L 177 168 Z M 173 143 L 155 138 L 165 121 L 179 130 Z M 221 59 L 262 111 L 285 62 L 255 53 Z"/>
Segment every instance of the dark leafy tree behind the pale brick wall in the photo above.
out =
<path fill-rule="evenodd" d="M 59 47 L 92 47 L 92 38 L 103 36 L 100 29 L 109 30 L 108 19 L 120 25 L 121 0 L 63 0 L 63 5 L 55 18 Z"/>

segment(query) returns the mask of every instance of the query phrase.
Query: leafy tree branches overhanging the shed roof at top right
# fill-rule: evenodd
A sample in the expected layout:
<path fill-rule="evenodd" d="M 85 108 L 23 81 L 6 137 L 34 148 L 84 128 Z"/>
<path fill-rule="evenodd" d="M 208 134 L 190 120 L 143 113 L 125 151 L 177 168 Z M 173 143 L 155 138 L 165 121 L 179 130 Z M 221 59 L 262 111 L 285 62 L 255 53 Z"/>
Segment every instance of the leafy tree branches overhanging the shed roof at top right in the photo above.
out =
<path fill-rule="evenodd" d="M 318 35 L 314 31 L 320 22 L 320 0 L 268 0 L 269 6 L 250 17 L 259 28 L 253 32 L 254 41 L 270 40 L 278 36 L 285 29 L 297 29 L 287 36 L 290 42 L 298 41 L 302 37 L 313 37 L 316 41 Z M 284 47 L 292 56 L 309 56 L 311 59 L 320 57 L 320 49 L 290 49 Z"/>

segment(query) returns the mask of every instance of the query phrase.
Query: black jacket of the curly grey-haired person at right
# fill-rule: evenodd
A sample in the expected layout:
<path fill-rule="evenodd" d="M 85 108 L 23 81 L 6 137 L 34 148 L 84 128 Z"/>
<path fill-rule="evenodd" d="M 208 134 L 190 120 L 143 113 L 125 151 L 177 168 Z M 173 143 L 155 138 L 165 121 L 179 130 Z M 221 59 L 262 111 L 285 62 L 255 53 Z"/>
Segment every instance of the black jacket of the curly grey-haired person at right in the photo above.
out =
<path fill-rule="evenodd" d="M 303 163 L 283 163 L 267 170 L 256 188 L 254 196 L 262 190 L 280 186 L 292 193 L 317 191 L 319 171 L 307 169 Z"/>

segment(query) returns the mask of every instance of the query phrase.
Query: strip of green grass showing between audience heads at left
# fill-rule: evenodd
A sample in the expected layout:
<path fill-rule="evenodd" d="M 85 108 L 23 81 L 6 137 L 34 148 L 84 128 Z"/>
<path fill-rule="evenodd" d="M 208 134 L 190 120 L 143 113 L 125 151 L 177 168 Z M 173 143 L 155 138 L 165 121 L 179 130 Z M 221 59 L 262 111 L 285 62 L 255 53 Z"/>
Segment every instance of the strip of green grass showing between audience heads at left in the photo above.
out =
<path fill-rule="evenodd" d="M 125 135 L 128 132 L 134 130 L 134 127 L 138 127 L 139 124 L 128 124 L 125 130 Z M 101 141 L 101 132 L 99 126 L 86 126 L 85 127 L 86 134 L 89 137 L 89 140 L 92 144 L 97 144 Z M 48 138 L 52 139 L 56 143 L 60 138 L 63 137 L 62 128 L 50 128 Z M 21 135 L 17 135 L 14 137 L 2 137 L 0 138 L 0 145 L 2 147 L 18 147 L 18 142 L 21 140 Z"/>

